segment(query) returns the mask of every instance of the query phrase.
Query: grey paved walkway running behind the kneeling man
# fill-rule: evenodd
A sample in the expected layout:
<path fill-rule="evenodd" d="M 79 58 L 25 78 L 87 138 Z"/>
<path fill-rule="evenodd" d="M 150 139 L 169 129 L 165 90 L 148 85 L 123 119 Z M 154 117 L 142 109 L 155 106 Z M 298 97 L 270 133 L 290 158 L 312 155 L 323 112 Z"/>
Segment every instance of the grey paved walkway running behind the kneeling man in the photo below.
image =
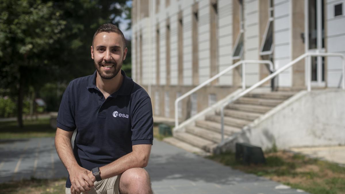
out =
<path fill-rule="evenodd" d="M 156 140 L 146 169 L 155 194 L 305 193 Z M 54 139 L 0 140 L 0 183 L 30 177 L 67 177 L 56 154 Z"/>

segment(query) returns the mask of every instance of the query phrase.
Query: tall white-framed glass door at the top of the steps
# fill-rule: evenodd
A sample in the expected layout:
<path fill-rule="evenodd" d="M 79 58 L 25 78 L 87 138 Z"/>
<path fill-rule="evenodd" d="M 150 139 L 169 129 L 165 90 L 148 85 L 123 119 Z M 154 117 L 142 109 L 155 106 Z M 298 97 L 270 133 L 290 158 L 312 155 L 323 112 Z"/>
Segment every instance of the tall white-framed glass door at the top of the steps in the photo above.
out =
<path fill-rule="evenodd" d="M 306 52 L 325 52 L 324 0 L 305 1 Z M 311 74 L 313 86 L 325 86 L 324 57 L 312 57 Z"/>

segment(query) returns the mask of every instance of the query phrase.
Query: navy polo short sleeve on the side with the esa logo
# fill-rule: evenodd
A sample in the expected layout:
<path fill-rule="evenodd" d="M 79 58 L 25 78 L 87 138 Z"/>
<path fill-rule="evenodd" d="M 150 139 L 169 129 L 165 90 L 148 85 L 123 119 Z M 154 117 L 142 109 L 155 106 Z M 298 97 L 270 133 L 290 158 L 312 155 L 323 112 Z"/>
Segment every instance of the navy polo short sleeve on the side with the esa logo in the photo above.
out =
<path fill-rule="evenodd" d="M 131 114 L 132 145 L 151 144 L 153 141 L 152 105 L 149 97 L 136 103 Z"/>

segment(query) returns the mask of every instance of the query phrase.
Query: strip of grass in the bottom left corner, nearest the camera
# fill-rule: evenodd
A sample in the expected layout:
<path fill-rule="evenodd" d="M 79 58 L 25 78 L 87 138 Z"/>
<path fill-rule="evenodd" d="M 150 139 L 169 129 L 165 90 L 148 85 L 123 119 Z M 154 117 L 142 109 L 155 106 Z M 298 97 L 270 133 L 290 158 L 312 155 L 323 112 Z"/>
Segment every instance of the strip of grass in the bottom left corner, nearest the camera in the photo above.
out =
<path fill-rule="evenodd" d="M 3 194 L 61 194 L 65 193 L 66 178 L 63 179 L 36 179 L 1 183 L 0 191 Z"/>

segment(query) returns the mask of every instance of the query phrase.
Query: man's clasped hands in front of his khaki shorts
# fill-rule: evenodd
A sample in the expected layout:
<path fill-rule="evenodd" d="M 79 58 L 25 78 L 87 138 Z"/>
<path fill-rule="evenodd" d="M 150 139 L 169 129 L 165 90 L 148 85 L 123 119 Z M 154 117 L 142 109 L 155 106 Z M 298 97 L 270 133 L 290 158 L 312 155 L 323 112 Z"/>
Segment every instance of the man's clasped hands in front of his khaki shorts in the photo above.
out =
<path fill-rule="evenodd" d="M 92 181 L 90 176 L 88 176 L 88 173 L 91 173 L 91 171 L 80 166 L 71 168 L 68 173 L 72 183 L 71 194 L 79 194 L 81 192 L 90 191 L 94 186 L 93 182 L 96 181 L 96 179 L 95 181 Z"/>

